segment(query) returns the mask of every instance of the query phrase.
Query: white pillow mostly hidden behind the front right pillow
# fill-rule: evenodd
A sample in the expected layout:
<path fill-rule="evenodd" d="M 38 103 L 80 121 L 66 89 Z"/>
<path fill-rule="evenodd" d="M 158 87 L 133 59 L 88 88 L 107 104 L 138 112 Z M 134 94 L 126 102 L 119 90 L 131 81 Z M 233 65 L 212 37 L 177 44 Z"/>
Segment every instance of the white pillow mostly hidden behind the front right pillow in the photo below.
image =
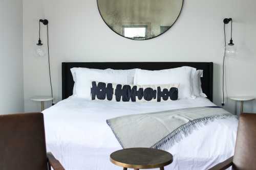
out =
<path fill-rule="evenodd" d="M 195 96 L 201 96 L 207 98 L 207 95 L 203 93 L 201 77 L 203 77 L 203 70 L 196 70 L 192 73 L 193 92 Z"/>

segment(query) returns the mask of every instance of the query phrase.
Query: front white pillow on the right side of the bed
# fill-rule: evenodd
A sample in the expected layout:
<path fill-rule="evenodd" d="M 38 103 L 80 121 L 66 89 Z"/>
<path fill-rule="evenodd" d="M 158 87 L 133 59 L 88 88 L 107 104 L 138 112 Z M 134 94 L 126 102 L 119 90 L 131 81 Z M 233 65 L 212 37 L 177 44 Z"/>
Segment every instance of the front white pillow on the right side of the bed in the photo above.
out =
<path fill-rule="evenodd" d="M 183 66 L 163 70 L 137 69 L 134 77 L 135 85 L 180 84 L 178 99 L 195 99 L 191 83 L 192 72 L 196 68 Z"/>

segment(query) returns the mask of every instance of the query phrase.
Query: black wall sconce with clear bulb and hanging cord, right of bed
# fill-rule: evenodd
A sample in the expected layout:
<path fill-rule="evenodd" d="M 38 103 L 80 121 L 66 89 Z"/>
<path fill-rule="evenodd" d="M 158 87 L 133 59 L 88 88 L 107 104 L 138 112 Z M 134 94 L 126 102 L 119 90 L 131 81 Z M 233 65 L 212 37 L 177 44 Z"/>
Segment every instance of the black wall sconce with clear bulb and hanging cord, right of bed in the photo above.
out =
<path fill-rule="evenodd" d="M 229 43 L 226 43 L 226 25 L 231 21 L 231 36 Z M 233 20 L 232 18 L 225 18 L 223 20 L 224 22 L 224 40 L 225 40 L 225 48 L 224 48 L 224 56 L 223 56 L 223 70 L 222 70 L 222 103 L 221 105 L 225 105 L 225 99 L 224 99 L 224 77 L 225 77 L 225 57 L 232 57 L 237 54 L 236 46 L 233 43 L 232 39 L 232 31 L 233 31 Z"/>

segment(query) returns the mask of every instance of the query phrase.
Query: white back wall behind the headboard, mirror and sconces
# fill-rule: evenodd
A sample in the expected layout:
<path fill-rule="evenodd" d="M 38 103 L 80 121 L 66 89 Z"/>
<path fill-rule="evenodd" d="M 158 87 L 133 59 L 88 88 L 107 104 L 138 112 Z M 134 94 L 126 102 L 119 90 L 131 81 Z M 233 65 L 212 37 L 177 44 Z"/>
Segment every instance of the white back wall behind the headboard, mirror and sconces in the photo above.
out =
<path fill-rule="evenodd" d="M 32 55 L 37 20 L 44 17 L 49 19 L 56 101 L 61 100 L 61 62 L 201 61 L 215 63 L 214 103 L 220 105 L 224 17 L 234 20 L 233 40 L 239 52 L 226 62 L 228 95 L 256 96 L 255 6 L 254 0 L 185 0 L 179 20 L 169 31 L 152 40 L 134 41 L 105 25 L 96 0 L 24 0 L 25 110 L 40 109 L 29 100 L 31 96 L 50 94 L 47 58 Z M 42 37 L 46 42 L 46 36 Z M 227 101 L 226 108 L 236 111 L 233 101 Z M 256 103 L 246 103 L 245 111 L 256 111 Z"/>

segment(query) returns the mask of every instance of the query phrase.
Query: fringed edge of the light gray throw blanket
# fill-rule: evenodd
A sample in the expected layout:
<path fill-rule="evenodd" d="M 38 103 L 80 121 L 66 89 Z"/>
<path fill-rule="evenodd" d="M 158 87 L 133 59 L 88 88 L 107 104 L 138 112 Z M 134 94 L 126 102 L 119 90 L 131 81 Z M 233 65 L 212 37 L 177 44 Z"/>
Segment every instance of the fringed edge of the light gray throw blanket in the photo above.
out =
<path fill-rule="evenodd" d="M 213 122 L 215 119 L 224 119 L 228 117 L 237 117 L 231 114 L 222 114 L 222 115 L 214 115 L 209 117 L 198 118 L 195 120 L 191 120 L 188 123 L 180 126 L 163 139 L 152 145 L 151 148 L 160 149 L 160 150 L 167 150 L 172 147 L 176 142 L 180 142 L 183 137 L 188 136 L 194 130 L 198 130 L 198 128 L 206 125 L 209 122 Z"/>

